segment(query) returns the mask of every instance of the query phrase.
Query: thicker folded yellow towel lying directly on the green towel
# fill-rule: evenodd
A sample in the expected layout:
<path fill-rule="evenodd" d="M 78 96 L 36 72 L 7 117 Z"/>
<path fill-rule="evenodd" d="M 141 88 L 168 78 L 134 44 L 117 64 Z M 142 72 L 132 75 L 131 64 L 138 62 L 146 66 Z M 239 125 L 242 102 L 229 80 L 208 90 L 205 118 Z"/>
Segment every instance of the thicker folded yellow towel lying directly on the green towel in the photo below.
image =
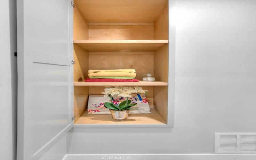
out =
<path fill-rule="evenodd" d="M 122 76 L 122 77 L 135 77 L 136 73 L 132 72 L 96 72 L 96 73 L 88 73 L 89 77 L 110 77 L 110 76 Z"/>

